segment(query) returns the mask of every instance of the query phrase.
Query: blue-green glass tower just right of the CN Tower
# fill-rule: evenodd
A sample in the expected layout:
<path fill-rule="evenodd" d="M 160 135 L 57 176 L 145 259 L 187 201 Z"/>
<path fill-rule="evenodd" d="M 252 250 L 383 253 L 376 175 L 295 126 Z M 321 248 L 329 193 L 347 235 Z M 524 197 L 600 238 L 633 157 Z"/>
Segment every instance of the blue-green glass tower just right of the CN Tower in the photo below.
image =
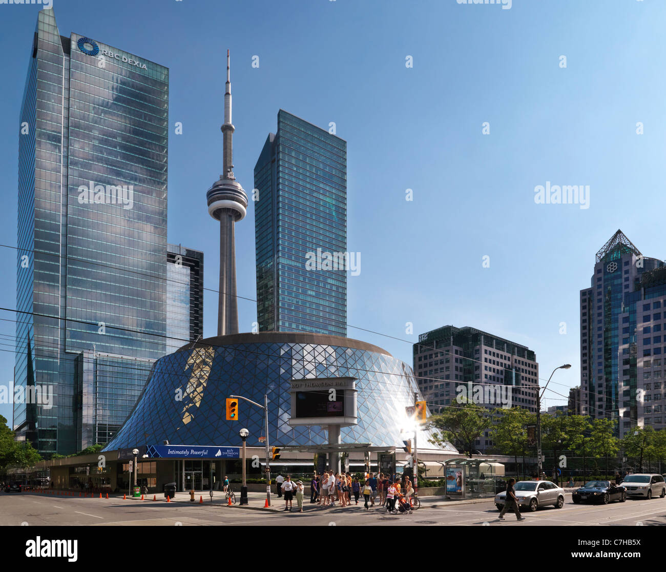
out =
<path fill-rule="evenodd" d="M 280 109 L 254 187 L 259 330 L 346 336 L 346 141 Z"/>

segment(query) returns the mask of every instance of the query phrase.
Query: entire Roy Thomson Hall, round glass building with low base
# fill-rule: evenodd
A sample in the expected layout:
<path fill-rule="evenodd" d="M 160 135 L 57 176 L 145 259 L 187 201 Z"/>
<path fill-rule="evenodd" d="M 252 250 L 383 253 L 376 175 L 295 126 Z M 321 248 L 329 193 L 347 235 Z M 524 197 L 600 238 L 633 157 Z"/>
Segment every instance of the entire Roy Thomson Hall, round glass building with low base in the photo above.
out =
<path fill-rule="evenodd" d="M 403 441 L 414 436 L 407 408 L 415 394 L 421 399 L 412 369 L 362 341 L 290 332 L 211 337 L 157 360 L 133 411 L 101 453 L 43 461 L 22 476 L 33 486 L 123 493 L 134 486 L 129 467 L 136 449 L 137 485 L 151 494 L 173 482 L 178 491 L 219 489 L 225 476 L 241 477 L 239 431 L 245 428 L 248 488 L 265 490 L 264 399 L 269 445 L 280 447 L 280 458 L 270 460 L 272 479 L 282 473 L 309 481 L 314 470 L 338 466 L 411 473 Z M 230 395 L 257 405 L 235 400 L 238 420 L 227 421 Z M 478 479 L 503 474 L 501 463 L 479 465 L 450 445 L 436 449 L 430 431 L 416 430 L 424 477 L 442 479 L 457 467 L 474 493 Z"/>

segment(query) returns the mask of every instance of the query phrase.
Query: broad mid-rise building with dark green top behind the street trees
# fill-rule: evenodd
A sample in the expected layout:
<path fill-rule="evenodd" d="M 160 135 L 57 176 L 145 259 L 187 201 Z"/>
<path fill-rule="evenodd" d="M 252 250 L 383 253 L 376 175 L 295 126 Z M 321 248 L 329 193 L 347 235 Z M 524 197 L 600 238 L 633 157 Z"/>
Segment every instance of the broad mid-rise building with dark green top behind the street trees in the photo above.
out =
<path fill-rule="evenodd" d="M 419 389 L 435 413 L 464 401 L 536 413 L 539 364 L 524 345 L 472 327 L 444 326 L 421 334 L 413 354 Z M 488 431 L 476 446 L 482 452 L 492 446 Z"/>

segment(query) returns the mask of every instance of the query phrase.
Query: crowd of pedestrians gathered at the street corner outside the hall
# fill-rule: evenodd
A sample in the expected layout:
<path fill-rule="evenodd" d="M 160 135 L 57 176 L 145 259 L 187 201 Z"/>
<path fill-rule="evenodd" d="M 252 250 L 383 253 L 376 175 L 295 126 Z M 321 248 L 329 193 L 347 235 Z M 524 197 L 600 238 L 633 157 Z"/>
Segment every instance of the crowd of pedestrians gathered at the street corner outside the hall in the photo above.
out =
<path fill-rule="evenodd" d="M 302 481 L 292 481 L 278 475 L 275 479 L 278 497 L 284 496 L 284 510 L 292 511 L 294 496 L 298 512 L 303 512 L 303 494 L 305 485 Z M 396 478 L 396 475 L 384 473 L 366 473 L 364 478 L 352 477 L 351 473 L 324 471 L 322 475 L 314 473 L 310 480 L 310 503 L 321 508 L 350 507 L 363 503 L 366 511 L 378 505 L 387 511 L 394 511 L 398 495 L 404 495 L 409 501 L 414 494 L 414 487 L 409 477 Z M 361 496 L 363 497 L 361 499 Z"/>

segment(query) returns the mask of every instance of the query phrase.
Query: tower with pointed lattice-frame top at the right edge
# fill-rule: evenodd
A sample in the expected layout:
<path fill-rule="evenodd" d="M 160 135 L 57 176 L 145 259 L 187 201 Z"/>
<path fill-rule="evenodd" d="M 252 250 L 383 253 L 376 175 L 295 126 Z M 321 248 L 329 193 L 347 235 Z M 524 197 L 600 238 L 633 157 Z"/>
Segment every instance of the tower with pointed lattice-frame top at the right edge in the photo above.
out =
<path fill-rule="evenodd" d="M 618 230 L 597 252 L 589 288 L 580 292 L 581 391 L 593 418 L 663 425 L 666 268 Z"/>

